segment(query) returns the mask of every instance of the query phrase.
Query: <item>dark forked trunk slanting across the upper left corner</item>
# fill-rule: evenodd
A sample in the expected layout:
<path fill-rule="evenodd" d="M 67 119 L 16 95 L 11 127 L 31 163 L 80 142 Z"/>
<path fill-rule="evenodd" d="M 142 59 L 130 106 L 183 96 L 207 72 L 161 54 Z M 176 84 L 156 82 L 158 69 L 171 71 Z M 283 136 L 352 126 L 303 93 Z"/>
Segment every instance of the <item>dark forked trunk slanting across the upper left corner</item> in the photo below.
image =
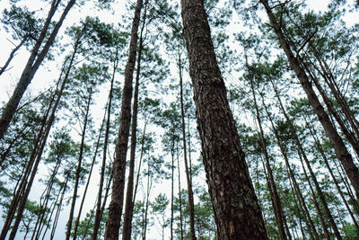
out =
<path fill-rule="evenodd" d="M 28 85 L 31 83 L 33 76 L 35 75 L 36 71 L 39 69 L 40 64 L 42 63 L 45 56 L 48 54 L 48 49 L 51 47 L 52 43 L 54 42 L 57 32 L 60 29 L 62 23 L 64 22 L 67 13 L 73 7 L 75 0 L 70 0 L 66 5 L 64 12 L 61 14 L 60 19 L 58 20 L 57 24 L 55 25 L 53 31 L 48 37 L 43 49 L 39 52 L 39 47 L 41 46 L 42 41 L 45 38 L 45 35 L 48 31 L 48 25 L 51 22 L 51 18 L 56 12 L 57 5 L 60 1 L 53 1 L 51 5 L 51 9 L 48 13 L 47 22 L 39 35 L 39 39 L 36 42 L 34 49 L 31 51 L 31 57 L 29 58 L 26 67 L 22 71 L 22 76 L 20 77 L 19 83 L 16 85 L 15 90 L 13 91 L 13 95 L 11 96 L 10 100 L 6 103 L 4 107 L 4 111 L 2 113 L 0 119 L 0 139 L 4 138 L 4 133 L 6 132 L 7 128 L 11 120 L 13 119 L 13 114 L 15 114 L 16 108 L 19 105 L 20 100 L 22 99 L 23 93 L 25 93 Z M 54 4 L 55 3 L 55 4 Z"/>

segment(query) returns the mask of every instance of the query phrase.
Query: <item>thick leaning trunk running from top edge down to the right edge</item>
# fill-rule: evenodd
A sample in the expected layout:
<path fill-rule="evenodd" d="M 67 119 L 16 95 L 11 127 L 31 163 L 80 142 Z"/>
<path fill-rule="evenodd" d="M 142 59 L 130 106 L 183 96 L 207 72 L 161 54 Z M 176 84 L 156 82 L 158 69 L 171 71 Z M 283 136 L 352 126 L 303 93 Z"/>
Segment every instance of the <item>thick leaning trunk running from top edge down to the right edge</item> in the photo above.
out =
<path fill-rule="evenodd" d="M 323 106 L 321 105 L 317 94 L 314 92 L 309 77 L 306 75 L 304 69 L 302 69 L 298 58 L 295 58 L 293 52 L 285 40 L 285 35 L 281 29 L 281 25 L 276 21 L 276 16 L 272 12 L 271 7 L 268 4 L 267 0 L 260 0 L 260 2 L 265 6 L 267 15 L 270 22 L 272 23 L 273 29 L 276 31 L 276 36 L 280 42 L 282 49 L 285 51 L 285 55 L 288 58 L 288 61 L 293 68 L 295 75 L 298 77 L 304 92 L 307 94 L 308 100 L 311 103 L 311 107 L 315 114 L 317 114 L 318 120 L 320 120 L 323 129 L 325 130 L 327 137 L 333 146 L 337 159 L 343 164 L 346 174 L 352 183 L 356 196 L 359 196 L 359 170 L 355 165 L 352 156 L 346 149 L 346 145 L 343 142 L 343 139 L 337 133 L 337 129 L 331 123 L 328 114 L 324 111 Z"/>

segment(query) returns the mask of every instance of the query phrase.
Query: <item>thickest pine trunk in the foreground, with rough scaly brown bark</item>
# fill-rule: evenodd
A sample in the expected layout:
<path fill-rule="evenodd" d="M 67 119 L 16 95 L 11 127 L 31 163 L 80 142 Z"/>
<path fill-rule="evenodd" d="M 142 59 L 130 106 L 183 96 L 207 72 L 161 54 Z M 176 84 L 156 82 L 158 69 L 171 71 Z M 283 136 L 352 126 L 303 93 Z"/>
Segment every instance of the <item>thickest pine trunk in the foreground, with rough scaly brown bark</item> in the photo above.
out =
<path fill-rule="evenodd" d="M 189 74 L 219 239 L 267 239 L 202 0 L 181 0 Z"/>

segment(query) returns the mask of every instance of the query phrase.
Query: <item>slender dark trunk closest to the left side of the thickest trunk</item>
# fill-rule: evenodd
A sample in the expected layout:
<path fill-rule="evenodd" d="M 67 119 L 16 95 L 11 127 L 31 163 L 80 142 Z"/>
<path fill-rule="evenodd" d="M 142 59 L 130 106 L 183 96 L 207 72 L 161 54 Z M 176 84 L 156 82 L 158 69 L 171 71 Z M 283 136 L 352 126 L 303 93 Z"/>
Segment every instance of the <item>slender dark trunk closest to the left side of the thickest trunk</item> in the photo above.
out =
<path fill-rule="evenodd" d="M 187 160 L 187 140 L 186 140 L 186 127 L 185 127 L 186 122 L 185 122 L 185 108 L 183 103 L 183 77 L 182 77 L 182 62 L 180 58 L 180 50 L 179 50 L 178 65 L 180 72 L 180 120 L 181 120 L 181 128 L 182 128 L 183 161 L 185 162 L 187 190 L 188 190 L 189 226 L 191 232 L 190 236 L 192 240 L 196 240 L 197 238 L 195 231 L 195 203 L 193 200 L 191 173 L 189 173 L 190 170 L 188 167 L 188 160 Z"/>

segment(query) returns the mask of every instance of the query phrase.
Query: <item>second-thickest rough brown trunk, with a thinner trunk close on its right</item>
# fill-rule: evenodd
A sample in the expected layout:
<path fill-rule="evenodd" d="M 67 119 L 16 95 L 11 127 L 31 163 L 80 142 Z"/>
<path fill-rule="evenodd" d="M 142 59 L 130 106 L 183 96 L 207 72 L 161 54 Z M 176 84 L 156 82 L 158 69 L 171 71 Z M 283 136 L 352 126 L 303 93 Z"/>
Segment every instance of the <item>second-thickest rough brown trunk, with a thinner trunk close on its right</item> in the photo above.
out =
<path fill-rule="evenodd" d="M 135 18 L 132 22 L 131 40 L 128 61 L 125 68 L 125 83 L 122 92 L 121 122 L 118 130 L 118 143 L 115 148 L 113 163 L 112 195 L 109 203 L 109 218 L 106 224 L 105 239 L 118 240 L 119 227 L 123 208 L 126 156 L 128 146 L 129 126 L 131 122 L 132 82 L 136 62 L 136 47 L 138 39 L 138 25 L 142 9 L 142 0 L 137 0 Z"/>

